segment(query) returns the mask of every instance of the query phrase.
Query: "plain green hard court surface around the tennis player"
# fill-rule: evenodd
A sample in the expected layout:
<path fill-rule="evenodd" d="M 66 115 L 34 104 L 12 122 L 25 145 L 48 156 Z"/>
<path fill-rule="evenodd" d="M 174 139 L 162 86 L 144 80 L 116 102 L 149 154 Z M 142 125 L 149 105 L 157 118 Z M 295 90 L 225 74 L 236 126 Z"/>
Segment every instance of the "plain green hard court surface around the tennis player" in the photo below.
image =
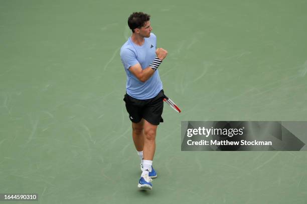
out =
<path fill-rule="evenodd" d="M 181 151 L 185 120 L 306 120 L 305 0 L 0 1 L 0 193 L 27 203 L 307 203 L 305 151 Z M 151 191 L 119 49 L 151 15 L 165 105 Z M 24 202 L 1 202 L 24 203 Z"/>

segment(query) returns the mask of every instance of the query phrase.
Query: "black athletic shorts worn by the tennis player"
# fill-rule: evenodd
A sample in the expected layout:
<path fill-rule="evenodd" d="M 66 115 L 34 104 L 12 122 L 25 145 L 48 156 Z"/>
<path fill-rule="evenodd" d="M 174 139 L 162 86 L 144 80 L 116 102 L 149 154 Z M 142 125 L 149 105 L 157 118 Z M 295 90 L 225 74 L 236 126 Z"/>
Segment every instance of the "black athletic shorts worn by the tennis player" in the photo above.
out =
<path fill-rule="evenodd" d="M 126 109 L 132 122 L 138 123 L 144 118 L 151 124 L 158 125 L 163 122 L 164 97 L 164 91 L 161 90 L 156 97 L 144 100 L 136 99 L 126 93 L 123 100 L 126 103 Z"/>

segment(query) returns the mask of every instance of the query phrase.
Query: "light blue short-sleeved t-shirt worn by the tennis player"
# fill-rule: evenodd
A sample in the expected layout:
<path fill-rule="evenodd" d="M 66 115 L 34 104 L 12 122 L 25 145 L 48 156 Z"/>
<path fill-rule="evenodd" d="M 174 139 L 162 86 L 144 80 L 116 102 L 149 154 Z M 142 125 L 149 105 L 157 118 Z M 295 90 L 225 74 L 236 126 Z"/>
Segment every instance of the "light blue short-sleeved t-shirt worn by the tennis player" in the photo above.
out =
<path fill-rule="evenodd" d="M 150 33 L 150 36 L 145 37 L 144 40 L 144 43 L 139 46 L 129 37 L 120 48 L 120 58 L 127 74 L 126 91 L 128 95 L 137 99 L 153 98 L 163 89 L 158 69 L 145 82 L 138 80 L 129 70 L 130 66 L 137 63 L 144 69 L 156 58 L 156 35 Z"/>

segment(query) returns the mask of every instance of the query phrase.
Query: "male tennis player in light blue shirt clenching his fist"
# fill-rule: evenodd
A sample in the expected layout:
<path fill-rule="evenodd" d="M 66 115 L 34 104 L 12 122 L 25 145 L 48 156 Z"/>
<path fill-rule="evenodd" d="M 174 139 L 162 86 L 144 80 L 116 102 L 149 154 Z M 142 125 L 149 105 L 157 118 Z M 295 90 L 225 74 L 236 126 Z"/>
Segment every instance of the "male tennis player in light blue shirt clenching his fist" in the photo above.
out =
<path fill-rule="evenodd" d="M 127 75 L 124 101 L 132 122 L 132 138 L 141 159 L 138 187 L 151 189 L 151 178 L 157 177 L 152 167 L 156 150 L 156 132 L 163 122 L 164 92 L 158 67 L 167 50 L 157 48 L 157 37 L 151 33 L 150 15 L 133 12 L 128 18 L 132 34 L 120 49 Z"/>

